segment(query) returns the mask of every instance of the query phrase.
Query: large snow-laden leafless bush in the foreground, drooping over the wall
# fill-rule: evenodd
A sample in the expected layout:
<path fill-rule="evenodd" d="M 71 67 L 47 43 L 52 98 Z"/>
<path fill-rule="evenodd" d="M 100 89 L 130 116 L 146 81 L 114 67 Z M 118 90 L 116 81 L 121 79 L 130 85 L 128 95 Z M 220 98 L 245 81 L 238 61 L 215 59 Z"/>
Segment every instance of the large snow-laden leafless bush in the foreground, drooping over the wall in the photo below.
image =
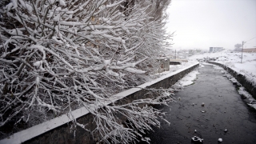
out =
<path fill-rule="evenodd" d="M 130 142 L 138 131 L 159 124 L 159 110 L 137 105 L 165 101 L 104 104 L 112 94 L 135 86 L 130 83 L 139 74 L 150 74 L 171 37 L 162 18 L 152 20 L 155 10 L 146 1 L 124 2 L 2 0 L 0 127 L 36 124 L 38 117 L 54 118 L 81 106 L 94 115 L 97 128 L 91 131 L 102 142 L 118 142 L 123 134 L 129 135 L 124 142 Z M 117 111 L 133 129 L 118 122 Z M 75 119 L 74 124 L 86 129 Z"/>

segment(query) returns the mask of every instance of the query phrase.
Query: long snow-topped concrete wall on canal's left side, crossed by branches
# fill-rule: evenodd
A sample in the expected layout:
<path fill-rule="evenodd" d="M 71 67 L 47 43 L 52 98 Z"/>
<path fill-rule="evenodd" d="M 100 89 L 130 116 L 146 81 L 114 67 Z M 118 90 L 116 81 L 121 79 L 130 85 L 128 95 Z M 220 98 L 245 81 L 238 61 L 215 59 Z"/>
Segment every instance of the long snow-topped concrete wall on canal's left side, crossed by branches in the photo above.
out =
<path fill-rule="evenodd" d="M 136 99 L 149 98 L 151 95 L 147 94 L 147 90 L 143 88 L 169 88 L 179 79 L 184 77 L 190 71 L 198 67 L 199 64 L 195 63 L 192 66 L 187 66 L 182 70 L 177 70 L 173 73 L 166 74 L 161 78 L 154 79 L 151 82 L 146 82 L 138 88 L 132 88 L 130 90 L 125 90 L 121 93 L 114 94 L 108 100 L 102 102 L 106 105 L 110 105 L 113 102 L 118 104 L 126 104 L 132 102 Z M 92 106 L 91 109 L 94 109 Z M 77 122 L 88 123 L 90 129 L 94 129 L 94 118 L 88 110 L 84 107 L 71 112 L 74 118 L 77 118 Z M 69 118 L 67 114 L 63 114 L 58 118 L 51 119 L 47 122 L 42 122 L 37 126 L 30 127 L 29 129 L 19 131 L 10 136 L 10 138 L 5 138 L 0 141 L 0 144 L 17 144 L 17 143 L 96 143 L 92 138 L 90 132 L 77 127 L 75 138 L 74 133 L 70 132 L 70 124 L 72 119 Z"/>

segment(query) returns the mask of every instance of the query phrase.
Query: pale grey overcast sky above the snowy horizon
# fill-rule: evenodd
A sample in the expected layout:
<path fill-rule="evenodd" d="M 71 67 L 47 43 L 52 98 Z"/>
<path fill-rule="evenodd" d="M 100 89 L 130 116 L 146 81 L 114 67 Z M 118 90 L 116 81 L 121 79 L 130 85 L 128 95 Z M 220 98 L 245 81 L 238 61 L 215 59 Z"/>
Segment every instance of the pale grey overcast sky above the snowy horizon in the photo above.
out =
<path fill-rule="evenodd" d="M 256 0 L 172 0 L 167 14 L 173 49 L 256 46 Z"/>

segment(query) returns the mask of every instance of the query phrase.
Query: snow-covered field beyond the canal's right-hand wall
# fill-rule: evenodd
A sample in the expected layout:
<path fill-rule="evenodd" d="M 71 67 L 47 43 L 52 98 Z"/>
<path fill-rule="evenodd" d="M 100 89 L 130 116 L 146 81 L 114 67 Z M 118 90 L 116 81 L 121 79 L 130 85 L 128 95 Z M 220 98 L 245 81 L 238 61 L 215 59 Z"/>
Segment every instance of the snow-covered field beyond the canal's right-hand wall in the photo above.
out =
<path fill-rule="evenodd" d="M 241 63 L 242 57 L 242 63 Z M 246 79 L 256 86 L 256 53 L 218 53 L 197 54 L 189 58 L 190 61 L 205 62 L 207 60 L 222 63 L 225 66 L 246 76 Z"/>

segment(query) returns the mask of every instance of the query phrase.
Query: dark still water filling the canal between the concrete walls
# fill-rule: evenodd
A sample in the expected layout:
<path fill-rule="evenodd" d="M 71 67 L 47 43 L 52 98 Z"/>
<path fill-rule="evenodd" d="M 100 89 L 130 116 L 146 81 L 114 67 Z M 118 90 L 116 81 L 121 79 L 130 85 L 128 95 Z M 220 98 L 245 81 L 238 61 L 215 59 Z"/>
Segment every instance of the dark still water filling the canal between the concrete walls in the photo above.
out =
<path fill-rule="evenodd" d="M 194 135 L 203 138 L 205 144 L 217 144 L 218 138 L 222 138 L 223 144 L 256 144 L 255 110 L 246 106 L 220 70 L 210 65 L 198 70 L 200 74 L 194 85 L 175 94 L 180 101 L 170 103 L 170 107 L 158 106 L 168 112 L 166 119 L 170 126 L 162 122 L 160 129 L 154 127 L 154 132 L 149 132 L 146 137 L 151 143 L 161 144 L 192 143 Z M 206 112 L 202 113 L 202 110 Z M 228 130 L 226 133 L 225 129 Z"/>

